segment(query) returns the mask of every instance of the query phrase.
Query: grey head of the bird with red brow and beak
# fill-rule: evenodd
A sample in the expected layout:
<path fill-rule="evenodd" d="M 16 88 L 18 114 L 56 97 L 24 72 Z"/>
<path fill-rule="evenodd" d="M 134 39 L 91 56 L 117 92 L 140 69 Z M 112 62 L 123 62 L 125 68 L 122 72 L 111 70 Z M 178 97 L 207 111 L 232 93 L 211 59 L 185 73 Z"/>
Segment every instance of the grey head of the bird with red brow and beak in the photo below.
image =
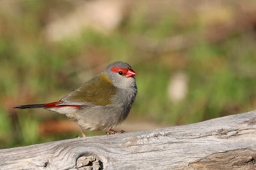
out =
<path fill-rule="evenodd" d="M 116 61 L 111 63 L 106 69 L 105 73 L 110 78 L 113 85 L 117 88 L 134 88 L 136 87 L 135 75 L 132 67 L 128 63 Z"/>

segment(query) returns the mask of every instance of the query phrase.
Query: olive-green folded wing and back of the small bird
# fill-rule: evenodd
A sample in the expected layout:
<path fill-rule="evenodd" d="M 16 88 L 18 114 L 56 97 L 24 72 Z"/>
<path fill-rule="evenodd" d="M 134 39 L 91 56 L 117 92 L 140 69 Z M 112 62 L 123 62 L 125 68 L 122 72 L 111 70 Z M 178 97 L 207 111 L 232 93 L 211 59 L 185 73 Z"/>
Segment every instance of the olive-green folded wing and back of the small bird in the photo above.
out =
<path fill-rule="evenodd" d="M 72 91 L 64 98 L 63 104 L 78 104 L 83 106 L 98 106 L 111 104 L 111 98 L 116 94 L 116 87 L 105 73 L 89 80 L 77 90 Z"/>

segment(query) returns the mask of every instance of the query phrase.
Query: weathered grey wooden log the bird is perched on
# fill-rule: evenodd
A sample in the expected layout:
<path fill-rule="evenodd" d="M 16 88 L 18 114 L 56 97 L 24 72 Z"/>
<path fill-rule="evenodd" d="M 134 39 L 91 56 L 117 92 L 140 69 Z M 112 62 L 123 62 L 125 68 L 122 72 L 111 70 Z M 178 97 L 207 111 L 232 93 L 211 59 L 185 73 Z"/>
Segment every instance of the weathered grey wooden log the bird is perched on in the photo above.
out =
<path fill-rule="evenodd" d="M 0 169 L 256 169 L 256 111 L 0 150 Z"/>

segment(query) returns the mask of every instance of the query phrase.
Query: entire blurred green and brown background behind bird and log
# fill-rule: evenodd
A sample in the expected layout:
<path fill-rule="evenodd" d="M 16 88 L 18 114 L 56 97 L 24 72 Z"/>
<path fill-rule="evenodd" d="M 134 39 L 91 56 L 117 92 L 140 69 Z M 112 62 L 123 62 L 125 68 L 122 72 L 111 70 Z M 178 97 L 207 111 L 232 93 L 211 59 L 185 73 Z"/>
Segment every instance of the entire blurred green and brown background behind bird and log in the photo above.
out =
<path fill-rule="evenodd" d="M 0 148 L 80 136 L 12 107 L 59 100 L 113 61 L 138 73 L 125 131 L 253 110 L 255 55 L 256 1 L 1 0 Z"/>

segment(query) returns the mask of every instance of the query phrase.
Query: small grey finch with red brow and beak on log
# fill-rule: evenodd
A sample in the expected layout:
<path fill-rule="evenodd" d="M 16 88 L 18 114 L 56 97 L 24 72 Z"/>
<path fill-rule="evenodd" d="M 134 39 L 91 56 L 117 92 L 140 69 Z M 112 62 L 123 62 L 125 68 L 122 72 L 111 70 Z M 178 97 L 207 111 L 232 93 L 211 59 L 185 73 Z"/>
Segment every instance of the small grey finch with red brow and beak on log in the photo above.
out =
<path fill-rule="evenodd" d="M 125 120 L 137 95 L 135 75 L 128 63 L 116 61 L 59 101 L 15 108 L 43 108 L 66 115 L 80 125 L 83 136 L 83 130 L 116 134 L 112 128 Z"/>

